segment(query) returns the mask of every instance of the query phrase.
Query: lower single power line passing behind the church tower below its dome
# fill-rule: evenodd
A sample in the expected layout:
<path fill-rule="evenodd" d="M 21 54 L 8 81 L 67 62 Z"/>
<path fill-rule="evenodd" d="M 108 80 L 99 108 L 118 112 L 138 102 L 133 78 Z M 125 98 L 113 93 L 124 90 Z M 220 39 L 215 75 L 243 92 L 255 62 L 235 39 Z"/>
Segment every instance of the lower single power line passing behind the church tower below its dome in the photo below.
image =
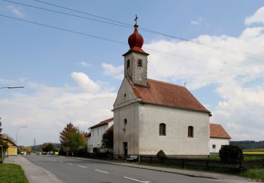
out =
<path fill-rule="evenodd" d="M 23 20 L 23 19 L 20 19 L 20 18 L 14 18 L 14 17 L 8 16 L 8 15 L 2 15 L 2 14 L 0 14 L 0 16 L 2 16 L 4 18 L 10 18 L 10 19 L 13 19 L 13 20 L 20 20 L 20 21 L 25 22 L 25 23 L 31 23 L 31 24 L 34 24 L 34 25 L 40 25 L 40 26 L 43 26 L 43 27 L 49 27 L 49 28 L 53 28 L 53 29 L 56 29 L 56 30 L 62 30 L 62 31 L 65 31 L 65 32 L 71 32 L 71 33 L 75 33 L 75 34 L 81 34 L 81 35 L 87 36 L 87 37 L 94 37 L 96 39 L 103 39 L 103 40 L 106 40 L 108 42 L 115 42 L 115 43 L 118 43 L 118 44 L 125 44 L 125 45 L 127 45 L 124 42 L 119 42 L 119 41 L 115 41 L 113 39 L 107 39 L 107 38 L 104 38 L 104 37 L 98 37 L 98 36 L 94 36 L 94 35 L 91 35 L 91 34 L 85 34 L 85 33 L 77 32 L 77 31 L 74 31 L 74 30 L 66 30 L 66 29 L 63 29 L 63 28 L 60 28 L 60 27 L 54 27 L 54 26 L 45 25 L 45 24 L 42 24 L 42 23 L 35 23 L 35 22 L 29 21 L 29 20 Z M 184 59 L 187 59 L 187 60 L 190 60 L 190 61 L 196 61 L 196 62 L 208 64 L 208 65 L 213 65 L 215 67 L 227 68 L 227 69 L 234 70 L 234 71 L 237 71 L 237 72 L 244 72 L 243 70 L 238 70 L 238 69 L 235 69 L 235 68 L 230 68 L 230 67 L 227 67 L 225 65 L 218 65 L 218 64 L 208 63 L 208 62 L 205 62 L 205 61 L 200 61 L 198 59 L 189 58 L 189 57 L 186 57 L 186 56 L 180 56 L 180 55 L 177 55 L 175 53 L 168 53 L 168 52 L 165 52 L 165 51 L 158 51 L 158 50 L 149 49 L 149 48 L 146 48 L 146 47 L 144 47 L 144 49 L 148 49 L 148 50 L 151 50 L 151 51 L 156 51 L 156 52 L 164 53 L 164 54 L 167 54 L 167 55 L 170 55 L 170 56 L 177 56 L 179 58 L 184 58 Z M 250 74 L 250 75 L 256 75 L 255 73 L 251 73 L 251 72 L 244 72 L 244 73 L 247 73 L 247 74 Z"/>

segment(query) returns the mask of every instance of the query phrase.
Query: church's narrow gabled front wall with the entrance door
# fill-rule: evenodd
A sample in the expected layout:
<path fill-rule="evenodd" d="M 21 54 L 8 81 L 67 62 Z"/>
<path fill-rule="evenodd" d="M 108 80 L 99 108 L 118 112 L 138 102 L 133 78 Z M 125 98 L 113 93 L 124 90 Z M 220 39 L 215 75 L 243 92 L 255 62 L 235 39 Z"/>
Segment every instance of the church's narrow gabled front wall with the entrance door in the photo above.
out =
<path fill-rule="evenodd" d="M 126 94 L 126 97 L 124 95 Z M 132 92 L 130 82 L 124 78 L 114 103 L 113 153 L 124 155 L 123 142 L 127 142 L 127 154 L 138 154 L 139 142 L 139 103 Z M 127 119 L 127 125 L 124 120 Z M 124 132 L 125 129 L 125 132 Z"/>

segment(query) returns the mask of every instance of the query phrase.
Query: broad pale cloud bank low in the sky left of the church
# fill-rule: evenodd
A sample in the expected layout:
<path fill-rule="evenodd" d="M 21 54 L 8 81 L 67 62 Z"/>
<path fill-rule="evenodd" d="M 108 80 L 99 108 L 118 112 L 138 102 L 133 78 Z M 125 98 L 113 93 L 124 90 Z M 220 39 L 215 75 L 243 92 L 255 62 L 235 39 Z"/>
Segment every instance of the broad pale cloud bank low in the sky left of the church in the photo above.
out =
<path fill-rule="evenodd" d="M 80 78 L 77 77 L 77 83 Z M 32 91 L 30 94 L 18 94 L 22 90 L 16 90 L 11 97 L 0 98 L 3 132 L 15 139 L 15 129 L 28 126 L 18 130 L 18 144 L 32 145 L 34 137 L 37 144 L 58 142 L 59 132 L 69 122 L 87 132 L 88 127 L 113 116 L 111 110 L 116 93 L 109 92 L 109 89 L 99 89 L 94 93 L 35 82 L 24 85 L 25 89 Z"/>

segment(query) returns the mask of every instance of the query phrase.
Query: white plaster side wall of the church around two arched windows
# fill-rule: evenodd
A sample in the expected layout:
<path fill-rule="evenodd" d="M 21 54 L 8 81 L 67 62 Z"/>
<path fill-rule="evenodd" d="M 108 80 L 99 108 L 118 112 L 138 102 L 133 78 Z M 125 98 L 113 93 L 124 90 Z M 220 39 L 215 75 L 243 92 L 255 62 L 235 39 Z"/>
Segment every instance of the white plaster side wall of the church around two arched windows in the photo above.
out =
<path fill-rule="evenodd" d="M 163 150 L 167 155 L 209 155 L 208 113 L 165 106 L 139 106 L 139 153 L 154 155 Z M 159 124 L 166 124 L 166 136 L 159 135 Z M 188 127 L 194 137 L 188 137 Z"/>

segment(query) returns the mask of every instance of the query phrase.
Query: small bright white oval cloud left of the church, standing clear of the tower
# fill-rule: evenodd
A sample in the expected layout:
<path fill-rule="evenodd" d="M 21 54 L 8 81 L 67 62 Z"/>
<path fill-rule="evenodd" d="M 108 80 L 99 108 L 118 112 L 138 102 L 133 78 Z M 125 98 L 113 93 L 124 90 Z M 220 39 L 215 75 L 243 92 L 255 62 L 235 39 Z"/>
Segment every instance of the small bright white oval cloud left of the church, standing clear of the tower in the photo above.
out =
<path fill-rule="evenodd" d="M 100 86 L 96 84 L 93 80 L 89 78 L 88 75 L 85 75 L 83 72 L 73 72 L 71 74 L 73 80 L 79 84 L 79 87 L 84 89 L 87 92 L 98 92 Z"/>

